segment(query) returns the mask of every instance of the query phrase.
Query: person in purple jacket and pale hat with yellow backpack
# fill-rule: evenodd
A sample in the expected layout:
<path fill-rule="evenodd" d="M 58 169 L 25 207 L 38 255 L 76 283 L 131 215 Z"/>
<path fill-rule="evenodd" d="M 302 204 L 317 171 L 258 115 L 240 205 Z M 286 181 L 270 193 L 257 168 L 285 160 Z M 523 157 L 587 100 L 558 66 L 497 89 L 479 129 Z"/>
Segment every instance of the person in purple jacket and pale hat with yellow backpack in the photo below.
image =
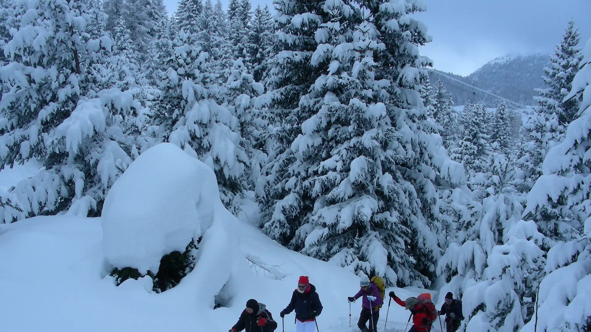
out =
<path fill-rule="evenodd" d="M 373 282 L 369 282 L 366 275 L 362 275 L 359 285 L 361 290 L 355 296 L 348 298 L 349 303 L 352 303 L 363 297 L 357 326 L 361 332 L 376 332 L 378 331 L 379 306 L 384 304 L 384 300 L 379 295 L 378 287 Z M 370 321 L 369 328 L 366 326 L 368 321 Z"/>

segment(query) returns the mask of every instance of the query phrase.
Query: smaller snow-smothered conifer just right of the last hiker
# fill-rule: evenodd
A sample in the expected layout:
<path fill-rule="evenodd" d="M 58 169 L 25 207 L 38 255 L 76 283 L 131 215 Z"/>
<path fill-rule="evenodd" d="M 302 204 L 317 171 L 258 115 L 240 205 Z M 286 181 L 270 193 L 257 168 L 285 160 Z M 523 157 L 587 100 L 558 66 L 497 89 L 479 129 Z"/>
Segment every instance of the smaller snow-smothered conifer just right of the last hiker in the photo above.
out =
<path fill-rule="evenodd" d="M 451 243 L 437 267 L 448 281 L 441 294 L 452 291 L 462 298 L 470 332 L 521 328 L 531 317 L 528 298 L 535 297 L 544 265 L 543 235 L 534 221 L 521 219 L 514 164 L 499 153 L 491 162 L 488 172 L 471 179 L 476 199 L 456 193 L 467 209 L 459 228 L 449 232 Z"/>

